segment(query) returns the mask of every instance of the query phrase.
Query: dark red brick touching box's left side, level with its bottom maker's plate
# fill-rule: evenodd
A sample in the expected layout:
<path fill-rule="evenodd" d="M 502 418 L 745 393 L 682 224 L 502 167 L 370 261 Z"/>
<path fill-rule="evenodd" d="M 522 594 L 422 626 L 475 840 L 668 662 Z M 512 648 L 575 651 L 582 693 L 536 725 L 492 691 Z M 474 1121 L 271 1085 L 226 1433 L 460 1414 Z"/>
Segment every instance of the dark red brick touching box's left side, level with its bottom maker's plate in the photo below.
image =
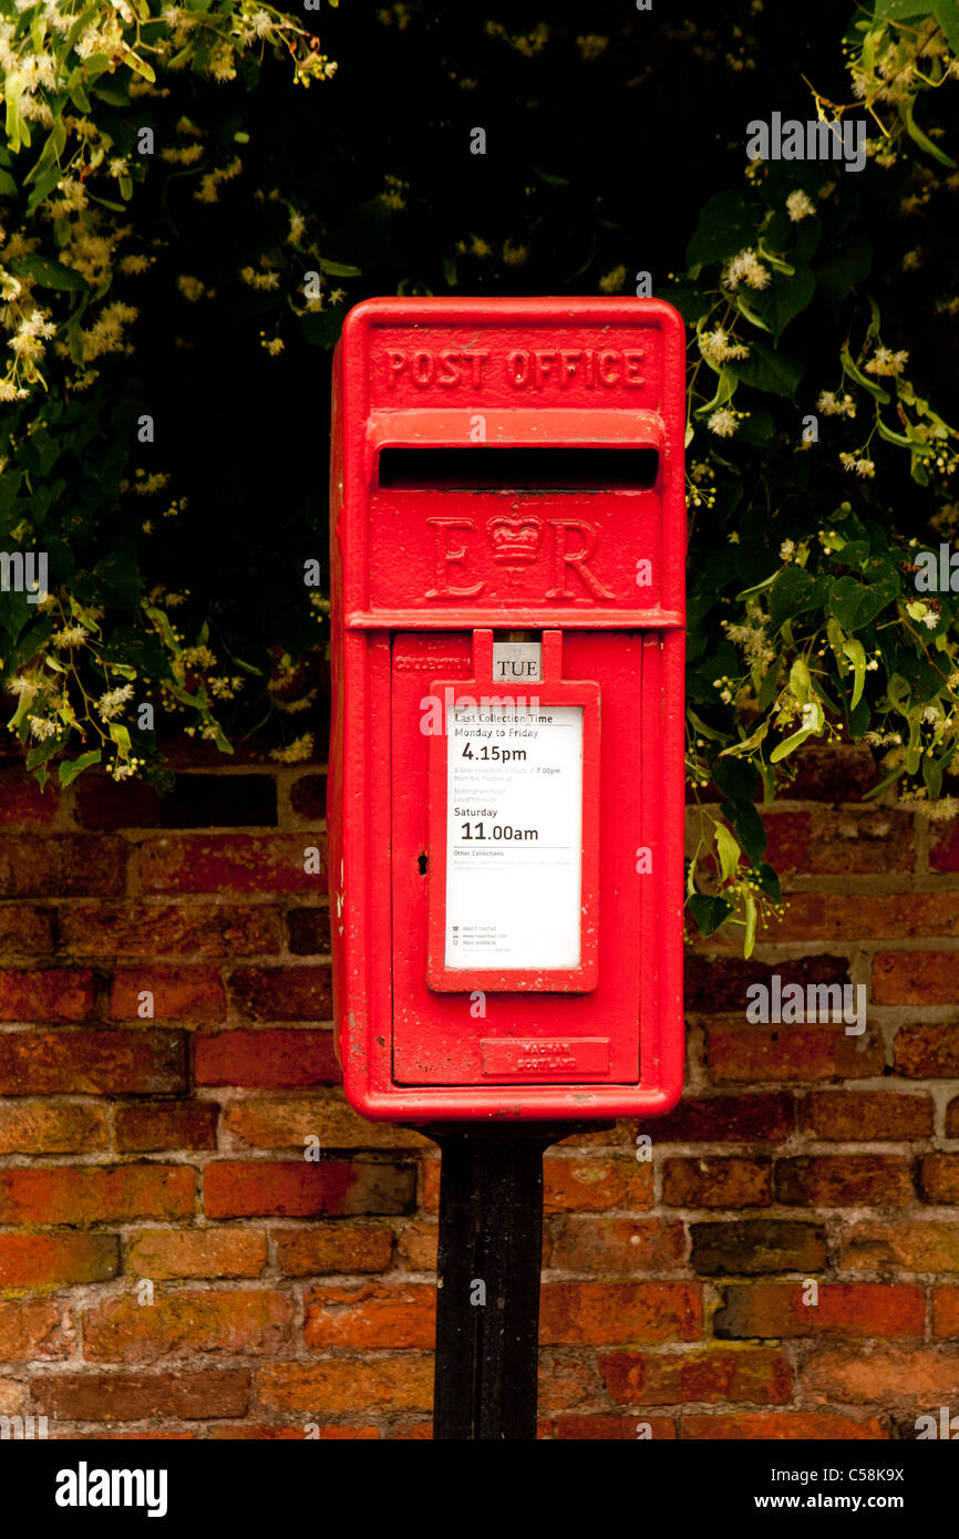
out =
<path fill-rule="evenodd" d="M 197 1085 L 242 1085 L 286 1090 L 336 1085 L 343 1077 L 332 1031 L 271 1028 L 266 1031 L 199 1031 Z"/>

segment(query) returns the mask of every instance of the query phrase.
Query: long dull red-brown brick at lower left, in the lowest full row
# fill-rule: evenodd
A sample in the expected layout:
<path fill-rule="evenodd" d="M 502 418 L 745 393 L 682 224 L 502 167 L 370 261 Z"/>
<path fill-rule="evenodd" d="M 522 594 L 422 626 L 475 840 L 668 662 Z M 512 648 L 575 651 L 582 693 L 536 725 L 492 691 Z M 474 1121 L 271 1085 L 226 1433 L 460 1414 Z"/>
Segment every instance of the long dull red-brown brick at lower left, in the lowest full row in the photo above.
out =
<path fill-rule="evenodd" d="M 249 1373 L 245 1368 L 177 1368 L 172 1373 L 38 1374 L 32 1390 L 38 1413 L 60 1422 L 145 1422 L 151 1417 L 205 1422 L 246 1414 Z"/>

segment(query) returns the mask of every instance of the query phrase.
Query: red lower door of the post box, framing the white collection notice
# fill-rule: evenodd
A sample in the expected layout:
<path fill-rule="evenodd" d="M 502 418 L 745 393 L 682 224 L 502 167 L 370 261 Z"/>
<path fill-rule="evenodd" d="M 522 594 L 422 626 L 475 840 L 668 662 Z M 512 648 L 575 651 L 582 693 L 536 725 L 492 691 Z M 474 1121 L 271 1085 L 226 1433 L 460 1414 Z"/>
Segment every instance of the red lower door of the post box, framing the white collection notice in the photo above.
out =
<path fill-rule="evenodd" d="M 563 680 L 594 682 L 602 711 L 599 817 L 582 825 L 583 839 L 599 840 L 596 902 L 588 914 L 596 930 L 591 937 L 596 965 L 591 973 L 583 970 L 588 980 L 580 988 L 574 974 L 568 986 L 557 983 L 560 974 L 548 968 L 531 966 L 525 977 L 522 966 L 513 966 L 506 974 L 510 986 L 502 986 L 497 968 L 490 966 L 493 986 L 485 986 L 483 968 L 471 965 L 468 982 L 457 991 L 448 977 L 440 988 L 431 988 L 428 979 L 431 862 L 436 863 L 439 851 L 436 840 L 431 846 L 429 834 L 429 794 L 437 790 L 429 783 L 431 734 L 422 726 L 431 680 L 473 677 L 473 633 L 393 637 L 393 1077 L 397 1083 L 530 1087 L 639 1079 L 640 756 L 643 734 L 656 731 L 654 713 L 643 711 L 642 663 L 639 634 L 563 633 Z M 651 816 L 648 810 L 645 816 Z M 436 833 L 436 819 L 433 826 Z M 522 862 L 514 860 L 513 866 L 517 870 Z M 488 882 L 485 888 L 488 905 Z M 505 908 L 510 897 L 503 891 Z M 468 893 L 465 899 L 460 893 L 459 900 L 468 913 Z M 514 960 L 522 963 L 522 956 Z"/>

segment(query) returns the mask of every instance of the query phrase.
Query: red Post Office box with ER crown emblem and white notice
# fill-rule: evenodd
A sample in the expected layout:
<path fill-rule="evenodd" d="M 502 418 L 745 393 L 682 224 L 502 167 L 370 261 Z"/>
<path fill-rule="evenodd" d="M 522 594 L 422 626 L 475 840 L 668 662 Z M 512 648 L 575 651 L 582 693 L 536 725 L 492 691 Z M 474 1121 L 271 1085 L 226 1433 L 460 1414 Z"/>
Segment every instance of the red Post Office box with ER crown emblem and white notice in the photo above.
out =
<path fill-rule="evenodd" d="M 685 332 L 377 299 L 334 360 L 329 902 L 368 1117 L 682 1085 Z"/>

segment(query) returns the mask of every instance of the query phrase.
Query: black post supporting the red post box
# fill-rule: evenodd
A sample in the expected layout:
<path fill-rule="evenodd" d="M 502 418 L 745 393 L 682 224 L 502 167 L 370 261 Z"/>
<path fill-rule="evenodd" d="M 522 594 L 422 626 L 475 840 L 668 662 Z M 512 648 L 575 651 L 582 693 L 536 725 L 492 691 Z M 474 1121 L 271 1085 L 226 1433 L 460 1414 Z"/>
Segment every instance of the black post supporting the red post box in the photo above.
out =
<path fill-rule="evenodd" d="M 534 1439 L 543 1150 L 613 1123 L 420 1128 L 442 1150 L 434 1439 Z"/>

